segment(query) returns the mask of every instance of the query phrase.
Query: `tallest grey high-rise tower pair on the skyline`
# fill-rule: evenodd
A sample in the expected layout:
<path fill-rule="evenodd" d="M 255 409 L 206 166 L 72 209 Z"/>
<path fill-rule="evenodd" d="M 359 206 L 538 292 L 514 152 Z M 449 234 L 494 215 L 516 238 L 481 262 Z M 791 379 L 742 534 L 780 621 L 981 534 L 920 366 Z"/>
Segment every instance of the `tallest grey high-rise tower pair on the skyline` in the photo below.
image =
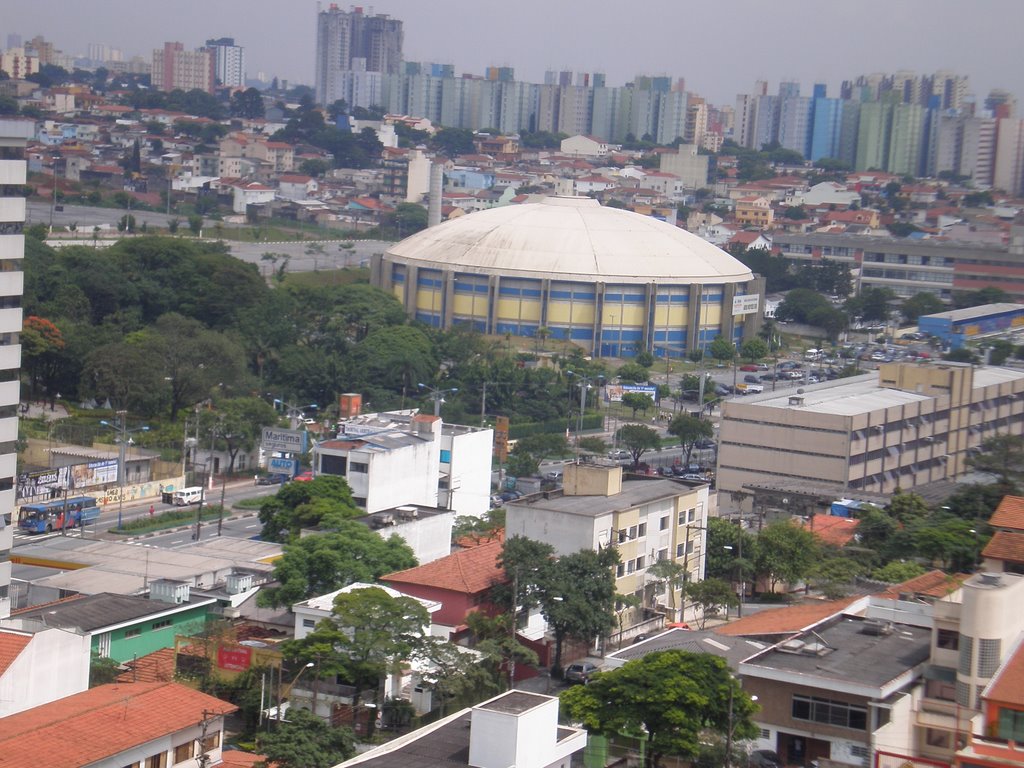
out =
<path fill-rule="evenodd" d="M 346 72 L 401 73 L 402 36 L 401 22 L 387 14 L 367 15 L 358 6 L 341 10 L 334 3 L 322 10 L 316 18 L 316 100 L 351 103 Z"/>

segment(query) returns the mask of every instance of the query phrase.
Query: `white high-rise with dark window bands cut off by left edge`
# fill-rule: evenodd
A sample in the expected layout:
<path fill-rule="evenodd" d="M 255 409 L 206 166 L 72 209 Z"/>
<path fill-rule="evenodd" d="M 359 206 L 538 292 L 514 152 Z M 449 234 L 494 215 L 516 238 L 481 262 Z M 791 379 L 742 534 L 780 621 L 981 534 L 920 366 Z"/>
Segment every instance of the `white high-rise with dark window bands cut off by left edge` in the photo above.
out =
<path fill-rule="evenodd" d="M 5 522 L 14 516 L 17 476 L 17 406 L 22 396 L 22 293 L 25 278 L 25 145 L 35 135 L 31 120 L 0 120 L 0 433 L 7 435 L 0 451 L 0 618 L 10 615 L 10 551 L 14 530 Z"/>

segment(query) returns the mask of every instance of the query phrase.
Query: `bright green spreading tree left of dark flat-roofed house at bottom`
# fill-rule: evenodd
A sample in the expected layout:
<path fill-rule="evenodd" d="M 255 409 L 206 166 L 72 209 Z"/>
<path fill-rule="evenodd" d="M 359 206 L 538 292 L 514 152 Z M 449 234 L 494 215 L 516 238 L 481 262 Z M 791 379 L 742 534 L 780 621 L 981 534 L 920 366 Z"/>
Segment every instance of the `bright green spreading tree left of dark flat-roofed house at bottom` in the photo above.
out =
<path fill-rule="evenodd" d="M 646 734 L 645 763 L 696 757 L 706 730 L 752 738 L 753 699 L 724 659 L 711 653 L 665 650 L 595 675 L 588 685 L 564 691 L 566 716 L 588 731 L 615 738 Z"/>

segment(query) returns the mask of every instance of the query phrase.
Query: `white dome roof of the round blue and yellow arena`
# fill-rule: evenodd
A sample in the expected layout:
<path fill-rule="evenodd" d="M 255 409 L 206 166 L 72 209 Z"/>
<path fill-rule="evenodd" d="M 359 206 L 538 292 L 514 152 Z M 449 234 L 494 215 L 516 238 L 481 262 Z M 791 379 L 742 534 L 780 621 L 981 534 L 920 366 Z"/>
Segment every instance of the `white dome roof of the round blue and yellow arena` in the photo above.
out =
<path fill-rule="evenodd" d="M 672 224 L 591 198 L 492 208 L 424 229 L 388 250 L 417 266 L 602 283 L 741 283 L 751 270 Z"/>

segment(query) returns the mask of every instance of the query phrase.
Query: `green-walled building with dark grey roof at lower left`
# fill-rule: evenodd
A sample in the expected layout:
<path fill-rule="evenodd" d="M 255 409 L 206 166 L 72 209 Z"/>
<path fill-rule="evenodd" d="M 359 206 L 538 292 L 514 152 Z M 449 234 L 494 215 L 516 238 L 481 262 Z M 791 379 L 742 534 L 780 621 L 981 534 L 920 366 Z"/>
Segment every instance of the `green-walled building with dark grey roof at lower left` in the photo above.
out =
<path fill-rule="evenodd" d="M 37 605 L 12 617 L 88 635 L 93 653 L 124 663 L 173 648 L 176 635 L 201 632 L 216 604 L 212 597 L 188 596 L 187 585 L 163 580 L 154 582 L 150 597 L 103 592 Z"/>

